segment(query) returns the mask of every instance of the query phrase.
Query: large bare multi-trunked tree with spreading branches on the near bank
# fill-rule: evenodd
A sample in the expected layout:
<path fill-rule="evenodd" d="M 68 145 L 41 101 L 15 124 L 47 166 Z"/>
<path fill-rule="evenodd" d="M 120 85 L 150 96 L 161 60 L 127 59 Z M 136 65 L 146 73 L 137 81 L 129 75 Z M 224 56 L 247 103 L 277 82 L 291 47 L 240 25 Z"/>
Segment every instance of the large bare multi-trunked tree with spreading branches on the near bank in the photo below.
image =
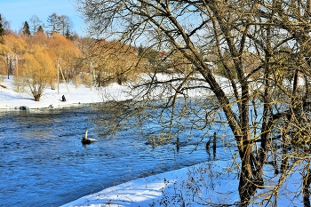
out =
<path fill-rule="evenodd" d="M 277 197 L 284 178 L 309 153 L 306 112 L 310 60 L 303 58 L 306 54 L 309 57 L 310 49 L 309 1 L 78 2 L 92 36 L 132 45 L 144 43 L 145 53 L 165 51 L 163 64 L 172 60 L 172 54 L 181 54 L 190 66 L 167 79 L 160 79 L 158 67 L 146 67 L 144 79 L 132 85 L 134 100 L 117 103 L 114 113 L 105 114 L 110 122 L 116 120 L 108 132 L 129 119 L 133 123 L 148 119 L 163 125 L 167 139 L 185 130 L 183 123 L 206 134 L 213 123 L 223 121 L 224 115 L 241 160 L 241 206 L 249 205 L 261 188 L 269 192 L 262 203 Z M 228 84 L 219 81 L 211 65 L 206 64 L 206 58 L 212 57 L 216 57 L 213 63 L 222 69 Z M 256 61 L 245 66 L 249 57 Z M 299 84 L 301 72 L 303 88 Z M 195 99 L 195 105 L 188 98 L 194 91 L 204 94 Z M 108 107 L 111 104 L 108 102 Z M 304 131 L 299 131 L 301 127 Z M 301 139 L 306 140 L 305 147 L 297 147 Z M 294 150 L 289 149 L 292 143 L 296 143 Z M 282 161 L 275 160 L 279 152 Z M 301 162 L 293 159 L 295 155 Z M 275 171 L 281 167 L 280 185 L 276 187 L 265 185 L 264 169 L 271 163 Z M 306 166 L 303 194 L 308 206 L 310 177 Z"/>

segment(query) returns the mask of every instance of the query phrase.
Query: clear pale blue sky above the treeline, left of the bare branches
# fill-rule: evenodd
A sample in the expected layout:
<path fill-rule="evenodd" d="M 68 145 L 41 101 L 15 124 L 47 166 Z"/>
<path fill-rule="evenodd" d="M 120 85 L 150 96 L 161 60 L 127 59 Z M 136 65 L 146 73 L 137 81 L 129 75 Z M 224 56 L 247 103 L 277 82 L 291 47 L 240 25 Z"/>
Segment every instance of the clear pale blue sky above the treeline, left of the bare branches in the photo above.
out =
<path fill-rule="evenodd" d="M 76 32 L 83 35 L 84 21 L 81 13 L 76 12 L 75 6 L 75 0 L 0 0 L 0 13 L 16 32 L 26 20 L 29 22 L 33 15 L 45 25 L 53 12 L 57 15 L 67 15 L 73 21 Z"/>

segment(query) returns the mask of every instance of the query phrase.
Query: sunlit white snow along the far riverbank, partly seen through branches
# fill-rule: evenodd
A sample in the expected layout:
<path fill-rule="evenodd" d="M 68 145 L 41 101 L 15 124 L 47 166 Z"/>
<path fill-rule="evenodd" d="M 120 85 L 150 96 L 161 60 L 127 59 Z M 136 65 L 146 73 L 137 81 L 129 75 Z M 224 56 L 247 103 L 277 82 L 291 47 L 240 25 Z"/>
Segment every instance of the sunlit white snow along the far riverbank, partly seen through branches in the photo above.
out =
<path fill-rule="evenodd" d="M 157 78 L 163 81 L 166 80 L 168 76 L 160 74 L 157 75 Z M 225 91 L 230 92 L 231 87 L 226 86 L 229 85 L 227 79 L 225 80 L 219 76 L 217 78 L 219 83 L 226 88 Z M 14 85 L 12 76 L 10 76 L 9 79 L 3 77 L 2 82 L 0 77 L 0 109 L 19 109 L 20 107 L 27 107 L 28 109 L 71 107 L 79 104 L 98 103 L 103 100 L 130 100 L 132 97 L 126 93 L 126 89 L 126 86 L 119 84 L 109 84 L 107 87 L 99 89 L 96 87 L 86 87 L 84 84 L 76 86 L 72 83 L 61 83 L 59 87 L 56 85 L 54 90 L 52 90 L 51 87 L 47 87 L 40 101 L 35 101 L 29 92 L 17 92 L 17 87 Z M 158 97 L 163 93 L 168 95 L 170 92 L 162 91 L 157 88 L 152 95 Z M 132 94 L 136 99 L 141 98 L 140 95 L 137 95 L 140 94 L 139 91 L 136 94 L 135 92 Z M 187 95 L 193 97 L 201 96 L 202 94 L 206 95 L 207 93 L 206 91 L 195 90 L 188 92 Z M 62 95 L 65 96 L 66 101 L 61 101 Z"/>

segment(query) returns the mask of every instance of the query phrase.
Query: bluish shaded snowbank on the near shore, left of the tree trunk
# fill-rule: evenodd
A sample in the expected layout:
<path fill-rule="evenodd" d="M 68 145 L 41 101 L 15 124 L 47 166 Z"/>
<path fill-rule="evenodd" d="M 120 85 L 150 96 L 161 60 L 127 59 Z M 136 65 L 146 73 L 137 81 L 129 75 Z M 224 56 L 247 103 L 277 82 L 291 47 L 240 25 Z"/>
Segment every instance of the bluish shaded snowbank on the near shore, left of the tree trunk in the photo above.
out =
<path fill-rule="evenodd" d="M 61 207 L 206 206 L 238 203 L 237 179 L 221 173 L 227 162 L 196 164 L 177 171 L 135 179 Z M 217 178 L 217 179 L 216 179 Z M 221 188 L 220 188 L 221 187 Z"/>

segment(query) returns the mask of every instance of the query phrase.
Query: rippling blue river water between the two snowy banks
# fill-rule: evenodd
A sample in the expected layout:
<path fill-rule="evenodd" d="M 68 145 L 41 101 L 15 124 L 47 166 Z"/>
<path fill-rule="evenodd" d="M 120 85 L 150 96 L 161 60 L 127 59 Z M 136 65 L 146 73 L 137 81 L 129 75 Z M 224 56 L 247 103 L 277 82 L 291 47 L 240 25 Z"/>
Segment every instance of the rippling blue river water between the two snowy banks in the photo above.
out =
<path fill-rule="evenodd" d="M 147 145 L 137 131 L 104 139 L 92 122 L 96 113 L 90 107 L 0 112 L 0 206 L 59 206 L 211 158 L 203 143 L 187 142 L 177 152 L 173 143 Z M 98 141 L 82 145 L 85 129 Z"/>

